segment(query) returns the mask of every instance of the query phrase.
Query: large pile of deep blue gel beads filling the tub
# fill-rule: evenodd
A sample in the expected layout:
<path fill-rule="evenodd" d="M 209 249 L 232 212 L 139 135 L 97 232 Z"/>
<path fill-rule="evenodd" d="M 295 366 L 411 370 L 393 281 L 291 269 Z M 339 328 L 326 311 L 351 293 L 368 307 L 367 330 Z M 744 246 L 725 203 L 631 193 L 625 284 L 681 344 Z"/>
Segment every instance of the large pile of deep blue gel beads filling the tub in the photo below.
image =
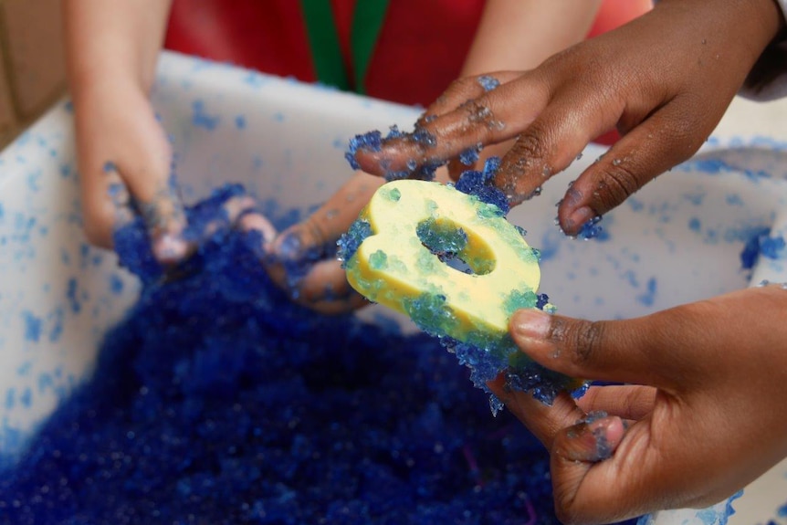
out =
<path fill-rule="evenodd" d="M 141 298 L 0 472 L 0 523 L 557 523 L 543 447 L 433 338 L 293 304 L 253 233 L 220 229 L 174 275 L 140 222 L 116 242 Z"/>

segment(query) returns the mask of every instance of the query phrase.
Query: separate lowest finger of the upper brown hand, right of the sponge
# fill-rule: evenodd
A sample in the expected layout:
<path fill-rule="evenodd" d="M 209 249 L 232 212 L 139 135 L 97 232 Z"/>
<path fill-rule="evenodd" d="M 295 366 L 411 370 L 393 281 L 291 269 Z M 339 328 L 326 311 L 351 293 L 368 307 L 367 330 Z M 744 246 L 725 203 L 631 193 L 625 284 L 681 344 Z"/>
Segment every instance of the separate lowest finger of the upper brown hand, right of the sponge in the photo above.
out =
<path fill-rule="evenodd" d="M 593 217 L 622 204 L 657 175 L 697 152 L 712 126 L 688 118 L 686 103 L 671 100 L 656 110 L 577 178 L 558 206 L 564 232 L 577 235 Z M 572 147 L 579 143 L 573 142 Z M 529 188 L 533 183 L 528 182 L 522 184 Z"/>

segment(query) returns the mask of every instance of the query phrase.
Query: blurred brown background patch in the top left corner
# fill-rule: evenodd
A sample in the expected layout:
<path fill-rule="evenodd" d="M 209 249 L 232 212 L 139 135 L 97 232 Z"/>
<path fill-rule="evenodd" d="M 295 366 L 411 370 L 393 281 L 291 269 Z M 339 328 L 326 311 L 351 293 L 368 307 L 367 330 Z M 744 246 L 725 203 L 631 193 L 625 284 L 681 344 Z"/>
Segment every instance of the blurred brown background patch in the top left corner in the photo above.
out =
<path fill-rule="evenodd" d="M 61 0 L 0 0 L 0 149 L 66 90 Z"/>

